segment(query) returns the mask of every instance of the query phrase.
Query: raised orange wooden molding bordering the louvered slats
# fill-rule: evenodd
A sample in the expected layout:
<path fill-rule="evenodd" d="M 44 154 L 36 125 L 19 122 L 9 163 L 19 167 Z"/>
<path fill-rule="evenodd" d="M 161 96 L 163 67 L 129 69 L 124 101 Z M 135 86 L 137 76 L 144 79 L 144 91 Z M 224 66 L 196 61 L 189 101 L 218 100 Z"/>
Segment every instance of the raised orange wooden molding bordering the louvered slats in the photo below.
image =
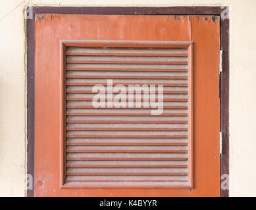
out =
<path fill-rule="evenodd" d="M 99 41 L 99 40 L 61 40 L 61 188 L 84 188 L 84 186 L 68 186 L 66 184 L 66 49 L 67 47 L 157 47 L 157 48 L 188 48 L 188 92 L 190 96 L 188 106 L 188 185 L 186 186 L 150 186 L 150 188 L 193 188 L 193 42 L 191 41 Z M 95 186 L 86 186 L 95 188 Z M 105 186 L 107 188 L 120 188 L 122 186 Z M 129 187 L 129 186 L 127 186 Z M 141 186 L 134 186 L 141 188 Z"/>

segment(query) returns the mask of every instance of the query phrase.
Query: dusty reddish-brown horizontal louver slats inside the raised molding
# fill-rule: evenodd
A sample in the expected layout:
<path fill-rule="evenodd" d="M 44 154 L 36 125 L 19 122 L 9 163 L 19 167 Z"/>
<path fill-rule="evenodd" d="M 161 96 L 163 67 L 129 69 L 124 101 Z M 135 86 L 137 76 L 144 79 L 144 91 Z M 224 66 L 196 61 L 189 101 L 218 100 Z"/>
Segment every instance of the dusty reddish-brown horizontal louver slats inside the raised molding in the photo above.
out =
<path fill-rule="evenodd" d="M 189 66 L 188 46 L 67 47 L 66 186 L 188 186 Z M 107 79 L 163 85 L 163 114 L 143 103 L 94 108 L 93 85 L 105 85 L 107 98 Z"/>

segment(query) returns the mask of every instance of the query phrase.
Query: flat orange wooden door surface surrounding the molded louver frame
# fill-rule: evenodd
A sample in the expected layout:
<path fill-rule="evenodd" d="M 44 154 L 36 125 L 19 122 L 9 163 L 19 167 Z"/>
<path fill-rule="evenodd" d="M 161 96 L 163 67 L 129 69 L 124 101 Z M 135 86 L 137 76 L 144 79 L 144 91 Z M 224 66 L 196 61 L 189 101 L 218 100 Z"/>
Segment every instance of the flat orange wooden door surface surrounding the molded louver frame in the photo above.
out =
<path fill-rule="evenodd" d="M 147 22 L 148 25 L 150 25 L 149 23 L 151 22 L 151 20 L 147 20 L 147 16 L 143 16 L 145 18 L 145 24 L 143 24 L 142 26 L 137 27 L 140 28 L 141 30 L 145 31 L 147 30 Z M 75 31 L 75 33 L 69 33 L 68 31 L 65 31 L 66 28 L 70 27 L 68 26 L 69 22 L 67 21 L 67 19 L 70 20 L 70 18 L 74 18 L 75 24 L 72 25 L 72 29 L 73 31 Z M 60 66 L 59 66 L 59 60 L 57 59 L 53 59 L 51 58 L 51 56 L 49 56 L 48 53 L 45 54 L 45 51 L 47 52 L 47 50 L 45 50 L 45 48 L 49 49 L 49 51 L 51 50 L 51 52 L 53 52 L 53 54 L 60 54 L 59 51 L 59 42 L 57 40 L 57 38 L 55 39 L 47 39 L 47 36 L 45 35 L 46 33 L 53 33 L 53 31 L 58 31 L 59 35 L 56 35 L 56 37 L 58 36 L 63 36 L 63 39 L 90 39 L 93 36 L 95 37 L 95 31 L 90 31 L 91 34 L 86 33 L 86 31 L 83 31 L 83 27 L 80 26 L 80 20 L 81 22 L 85 23 L 88 21 L 89 22 L 93 22 L 95 20 L 97 20 L 97 18 L 99 18 L 99 20 L 101 19 L 101 16 L 90 16 L 90 18 L 92 18 L 92 20 L 88 20 L 88 17 L 86 16 L 72 16 L 72 15 L 44 15 L 44 16 L 40 16 L 37 20 L 36 20 L 36 56 L 38 56 L 36 58 L 36 107 L 38 108 L 36 110 L 36 161 L 39 161 L 39 159 L 44 159 L 44 162 L 41 164 L 36 165 L 36 169 L 35 169 L 35 175 L 36 175 L 36 183 L 37 180 L 43 180 L 43 177 L 47 176 L 47 174 L 51 173 L 55 175 L 55 179 L 48 179 L 47 183 L 45 182 L 45 186 L 47 186 L 46 188 L 42 189 L 39 186 L 36 186 L 36 195 L 40 196 L 40 195 L 53 195 L 52 191 L 49 191 L 49 187 L 53 187 L 55 186 L 55 188 L 58 189 L 58 185 L 56 185 L 56 179 L 58 179 L 56 176 L 59 174 L 59 170 L 58 170 L 58 165 L 59 165 L 59 158 L 57 159 L 52 159 L 49 154 L 51 154 L 52 152 L 54 152 L 56 154 L 56 151 L 59 151 L 59 144 L 58 142 L 56 142 L 56 139 L 59 139 L 59 132 L 58 130 L 56 130 L 56 127 L 59 126 L 60 124 L 60 112 L 59 112 L 59 81 L 57 81 L 57 79 L 59 78 L 59 70 L 60 70 Z M 90 19 L 89 18 L 89 19 Z M 119 18 L 117 16 L 117 18 Z M 128 22 L 132 22 L 133 24 L 138 24 L 138 22 L 143 22 L 144 20 L 141 20 L 141 16 L 134 16 L 134 17 L 127 17 L 128 19 L 131 18 L 130 20 L 127 20 Z M 132 20 L 134 18 L 134 20 Z M 136 20 L 138 18 L 138 20 Z M 201 84 L 201 83 L 205 83 L 205 77 L 209 76 L 212 77 L 213 76 L 213 80 L 212 81 L 208 81 L 207 83 L 205 83 L 205 86 L 203 87 L 203 89 L 201 89 L 201 87 L 199 88 L 199 86 L 195 86 L 195 93 L 197 93 L 196 97 L 195 97 L 195 116 L 197 116 L 198 122 L 194 122 L 195 123 L 195 137 L 197 137 L 197 142 L 195 142 L 195 148 L 197 148 L 196 146 L 198 146 L 198 148 L 196 149 L 198 152 L 197 154 L 201 154 L 202 156 L 206 156 L 208 157 L 208 162 L 204 161 L 205 164 L 200 165 L 200 164 L 195 164 L 195 188 L 192 190 L 173 190 L 173 191 L 166 191 L 166 190 L 159 190 L 159 189 L 155 189 L 153 191 L 149 191 L 147 189 L 140 189 L 140 190 L 132 190 L 132 189 L 126 189 L 126 190 L 122 190 L 122 189 L 118 189 L 118 190 L 103 190 L 103 189 L 90 189 L 88 190 L 88 193 L 85 193 L 82 189 L 78 189 L 76 190 L 76 193 L 78 195 L 83 195 L 83 196 L 93 196 L 93 195 L 97 195 L 97 196 L 104 196 L 104 195 L 108 195 L 110 192 L 118 196 L 128 196 L 129 194 L 132 195 L 136 195 L 136 196 L 140 196 L 140 195 L 147 195 L 147 196 L 153 196 L 153 195 L 158 195 L 158 196 L 172 196 L 172 195 L 176 195 L 176 196 L 196 196 L 196 195 L 201 195 L 201 196 L 207 196 L 207 195 L 218 195 L 216 186 L 215 186 L 215 182 L 204 182 L 203 180 L 205 179 L 201 179 L 203 177 L 200 177 L 200 174 L 202 173 L 203 168 L 207 168 L 209 169 L 209 165 L 211 165 L 211 170 L 205 170 L 205 172 L 202 173 L 202 176 L 205 175 L 204 173 L 207 173 L 207 175 L 210 176 L 211 179 L 213 180 L 218 180 L 219 182 L 219 177 L 216 177 L 217 173 L 217 169 L 219 169 L 218 165 L 219 163 L 217 163 L 218 161 L 218 157 L 215 157 L 216 154 L 216 149 L 215 148 L 215 144 L 216 144 L 216 131 L 213 130 L 207 130 L 203 133 L 200 133 L 199 131 L 199 127 L 198 125 L 200 125 L 201 123 L 203 125 L 209 125 L 209 127 L 214 127 L 219 129 L 218 127 L 218 123 L 219 123 L 219 119 L 217 119 L 216 117 L 218 116 L 218 110 L 216 108 L 214 108 L 216 105 L 216 98 L 211 98 L 209 97 L 209 95 L 207 96 L 206 93 L 211 93 L 215 96 L 215 93 L 218 93 L 218 81 L 215 80 L 215 74 L 216 74 L 216 64 L 218 64 L 218 60 L 217 60 L 217 56 L 218 54 L 215 54 L 216 52 L 218 52 L 218 49 L 211 49 L 212 46 L 219 46 L 219 33 L 213 33 L 215 31 L 218 30 L 218 24 L 219 24 L 219 20 L 215 20 L 215 22 L 213 22 L 213 20 L 211 20 L 211 17 L 209 17 L 209 20 L 205 20 L 204 18 L 195 18 L 193 20 L 190 20 L 189 17 L 186 18 L 182 18 L 181 20 L 175 20 L 173 16 L 163 16 L 163 17 L 158 17 L 159 19 L 163 18 L 162 20 L 158 20 L 158 25 L 154 25 L 153 26 L 153 30 L 151 31 L 151 35 L 150 37 L 145 37 L 145 33 L 140 33 L 140 30 L 136 30 L 134 31 L 134 33 L 124 33 L 125 35 L 129 34 L 129 36 L 131 37 L 130 39 L 141 39 L 141 40 L 157 40 L 159 39 L 159 33 L 154 33 L 154 31 L 160 31 L 160 37 L 163 40 L 168 40 L 168 39 L 172 39 L 172 40 L 192 40 L 195 41 L 194 39 L 197 40 L 197 43 L 195 41 L 195 80 L 197 80 L 197 83 Z M 165 19 L 166 18 L 166 19 Z M 168 19 L 169 18 L 169 19 Z M 78 20 L 80 19 L 80 20 Z M 143 19 L 143 18 L 142 18 Z M 151 17 L 149 18 L 151 19 Z M 136 20 L 136 21 L 135 21 Z M 168 21 L 167 21 L 168 20 Z M 126 17 L 124 16 L 120 16 L 120 21 L 126 21 Z M 134 21 L 134 22 L 133 22 Z M 163 22 L 161 22 L 163 21 Z M 100 22 L 100 21 L 99 21 Z M 111 21 L 110 21 L 111 22 Z M 114 23 L 114 22 L 113 22 Z M 159 24 L 160 23 L 160 24 Z M 171 23 L 171 24 L 170 24 Z M 51 24 L 51 26 L 53 28 L 50 28 L 51 30 L 49 30 L 49 24 Z M 168 30 L 168 28 L 166 27 L 165 24 L 168 24 L 168 27 L 172 28 L 172 31 L 167 31 L 167 33 L 161 33 L 161 30 L 163 30 L 163 28 L 166 28 Z M 173 26 L 172 26 L 173 24 Z M 194 24 L 194 25 L 193 25 Z M 64 27 L 63 27 L 64 26 Z M 99 27 L 99 26 L 97 26 Z M 152 29 L 152 26 L 150 26 Z M 160 28 L 158 28 L 160 27 Z M 48 31 L 44 31 L 45 28 L 48 29 Z M 86 28 L 86 27 L 85 27 Z M 111 27 L 110 27 L 111 28 Z M 112 30 L 115 30 L 115 27 L 112 27 Z M 173 30 L 173 28 L 176 28 L 176 30 Z M 201 28 L 200 30 L 194 30 L 194 28 Z M 81 30 L 82 29 L 82 30 Z M 175 34 L 174 32 L 175 31 Z M 213 33 L 214 35 L 211 35 L 211 39 L 206 35 L 205 36 L 205 40 L 206 41 L 203 43 L 203 41 L 199 40 L 199 33 L 204 32 L 206 34 L 211 34 Z M 97 39 L 103 39 L 103 37 L 101 37 L 100 34 L 99 37 L 97 37 Z M 108 33 L 108 31 L 105 31 L 104 34 L 104 38 L 106 39 L 106 37 L 113 39 L 113 37 L 115 37 L 116 39 L 124 39 L 124 37 L 119 37 L 119 33 L 116 31 L 113 32 L 111 31 L 111 33 Z M 40 45 L 42 46 L 42 44 L 44 43 L 45 47 L 44 52 L 41 52 L 41 54 L 38 54 L 39 49 L 42 49 L 42 47 L 40 47 Z M 205 46 L 203 46 L 205 45 Z M 197 53 L 201 52 L 200 49 L 202 49 L 204 52 L 208 52 L 208 53 L 204 53 L 206 54 L 205 56 L 198 56 L 197 57 Z M 207 56 L 207 54 L 209 54 L 209 52 L 211 52 L 211 54 L 213 54 L 211 56 L 211 60 L 209 58 L 209 56 Z M 213 53 L 215 52 L 215 53 Z M 205 60 L 207 60 L 207 62 L 201 62 L 201 60 L 197 60 L 196 58 L 201 58 L 203 59 L 205 57 Z M 47 62 L 45 64 L 45 62 L 42 62 L 43 60 L 48 60 L 49 62 Z M 205 69 L 205 66 L 203 66 L 203 64 L 209 64 L 209 66 L 207 66 L 208 70 L 207 72 L 203 71 L 203 69 Z M 51 71 L 50 71 L 51 69 Z M 52 71 L 52 69 L 56 70 Z M 210 69 L 212 71 L 210 71 Z M 199 72 L 201 73 L 201 71 L 203 71 L 203 75 L 199 74 Z M 37 80 L 37 78 L 42 78 Z M 207 77 L 208 78 L 208 77 Z M 48 86 L 45 86 L 45 81 L 49 81 L 49 83 L 52 84 L 51 88 L 49 88 Z M 198 92 L 197 92 L 198 91 Z M 217 94 L 218 95 L 218 94 Z M 205 98 L 205 97 L 208 98 Z M 48 108 L 49 106 L 49 102 L 51 102 L 51 109 Z M 47 106 L 46 106 L 47 105 Z M 199 115 L 198 111 L 201 110 L 202 107 L 207 106 L 208 109 L 210 110 L 205 110 L 205 112 L 203 112 L 204 114 L 202 115 L 202 113 Z M 207 112 L 206 112 L 207 111 Z M 210 111 L 210 112 L 208 112 Z M 208 119 L 209 116 L 207 116 L 209 113 L 211 113 L 210 117 L 213 118 L 213 121 L 205 121 L 205 119 Z M 198 114 L 198 115 L 197 115 Z M 211 118 L 211 119 L 212 119 Z M 49 119 L 51 119 L 51 127 L 48 126 L 49 123 Z M 199 124 L 198 124 L 199 123 Z M 198 124 L 198 125 L 197 125 Z M 48 126 L 48 127 L 47 127 Z M 208 127 L 208 126 L 207 126 Z M 45 129 L 47 128 L 47 129 Z M 215 129 L 214 129 L 215 130 Z M 208 146 L 212 148 L 212 152 L 213 153 L 209 153 L 206 154 L 205 151 L 203 150 L 203 148 L 205 148 L 205 143 L 200 144 L 200 140 L 203 142 L 203 140 L 205 140 L 205 138 L 212 139 L 212 141 L 208 141 Z M 39 140 L 41 139 L 41 141 Z M 53 140 L 55 139 L 55 141 Z M 44 140 L 44 142 L 42 141 Z M 51 142 L 51 146 L 49 148 L 49 142 Z M 55 143 L 54 143 L 55 142 Z M 46 145 L 47 144 L 47 145 Z M 43 151 L 49 151 L 47 152 L 47 154 L 45 154 L 45 152 Z M 217 150 L 218 152 L 218 150 Z M 52 153 L 53 154 L 53 153 Z M 58 155 L 57 155 L 58 156 Z M 213 159 L 212 159 L 213 158 Z M 215 160 L 216 158 L 216 160 Z M 196 155 L 195 153 L 195 162 L 199 163 L 201 158 Z M 51 160 L 51 161 L 50 161 Z M 51 162 L 51 165 L 49 165 L 49 162 Z M 207 163 L 211 163 L 211 164 L 207 164 Z M 213 165 L 215 165 L 215 167 L 213 167 Z M 211 174 L 210 174 L 211 171 Z M 40 173 L 39 173 L 40 172 Z M 198 172 L 198 173 L 197 173 Z M 212 176 L 212 177 L 211 177 Z M 48 177 L 48 176 L 47 176 Z M 200 179 L 199 179 L 200 178 Z M 59 183 L 59 182 L 58 182 Z M 206 188 L 205 186 L 209 184 L 208 190 L 209 191 L 205 191 L 203 188 Z M 211 192 L 210 192 L 211 191 Z M 57 193 L 57 195 L 65 195 L 65 196 L 71 196 L 74 193 L 74 190 L 64 190 L 64 189 L 60 189 L 55 191 L 55 193 Z"/>

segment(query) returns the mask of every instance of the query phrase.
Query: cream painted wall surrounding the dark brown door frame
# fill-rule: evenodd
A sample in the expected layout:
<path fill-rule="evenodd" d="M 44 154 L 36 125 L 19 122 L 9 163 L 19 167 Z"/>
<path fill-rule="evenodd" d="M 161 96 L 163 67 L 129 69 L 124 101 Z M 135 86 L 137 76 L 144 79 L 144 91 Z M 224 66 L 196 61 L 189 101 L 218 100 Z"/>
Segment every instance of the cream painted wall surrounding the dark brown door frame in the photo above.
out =
<path fill-rule="evenodd" d="M 0 196 L 26 196 L 27 5 L 230 6 L 230 196 L 256 196 L 255 0 L 0 1 Z"/>

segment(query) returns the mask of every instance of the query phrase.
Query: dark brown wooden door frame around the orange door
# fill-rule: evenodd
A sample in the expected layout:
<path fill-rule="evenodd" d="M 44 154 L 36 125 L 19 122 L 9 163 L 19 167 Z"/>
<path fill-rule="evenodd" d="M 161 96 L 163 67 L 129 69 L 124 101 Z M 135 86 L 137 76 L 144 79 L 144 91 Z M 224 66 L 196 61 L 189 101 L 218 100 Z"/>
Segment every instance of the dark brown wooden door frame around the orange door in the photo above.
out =
<path fill-rule="evenodd" d="M 215 15 L 220 16 L 220 196 L 228 197 L 229 190 L 221 189 L 222 175 L 229 175 L 229 19 L 228 7 L 28 7 L 26 9 L 27 38 L 27 174 L 34 178 L 34 20 L 35 14 L 126 14 L 126 15 Z M 224 12 L 227 12 L 224 14 Z M 30 176 L 31 177 L 31 176 Z M 27 196 L 34 197 L 27 189 Z"/>

